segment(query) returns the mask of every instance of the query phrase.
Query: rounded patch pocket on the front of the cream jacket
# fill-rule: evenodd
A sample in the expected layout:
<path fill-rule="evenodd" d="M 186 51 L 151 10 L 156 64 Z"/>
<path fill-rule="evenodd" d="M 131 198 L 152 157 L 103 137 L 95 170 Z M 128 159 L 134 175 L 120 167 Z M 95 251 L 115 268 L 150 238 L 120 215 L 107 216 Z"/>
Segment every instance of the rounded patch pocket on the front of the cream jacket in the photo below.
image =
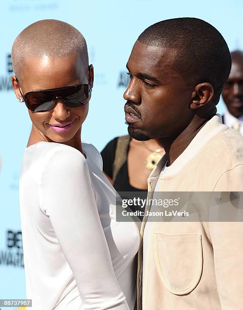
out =
<path fill-rule="evenodd" d="M 155 264 L 161 281 L 172 294 L 190 293 L 203 270 L 201 235 L 154 235 Z"/>

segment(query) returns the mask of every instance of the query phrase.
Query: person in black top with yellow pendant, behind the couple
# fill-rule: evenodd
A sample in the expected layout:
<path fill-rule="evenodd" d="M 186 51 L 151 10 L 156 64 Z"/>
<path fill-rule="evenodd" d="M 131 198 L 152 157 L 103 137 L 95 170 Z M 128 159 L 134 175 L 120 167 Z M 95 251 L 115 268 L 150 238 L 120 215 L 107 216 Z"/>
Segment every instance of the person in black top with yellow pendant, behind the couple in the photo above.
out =
<path fill-rule="evenodd" d="M 147 178 L 164 154 L 164 148 L 154 139 L 138 141 L 129 135 L 116 137 L 101 151 L 103 172 L 117 192 L 147 192 Z M 138 206 L 131 209 L 140 211 Z"/>

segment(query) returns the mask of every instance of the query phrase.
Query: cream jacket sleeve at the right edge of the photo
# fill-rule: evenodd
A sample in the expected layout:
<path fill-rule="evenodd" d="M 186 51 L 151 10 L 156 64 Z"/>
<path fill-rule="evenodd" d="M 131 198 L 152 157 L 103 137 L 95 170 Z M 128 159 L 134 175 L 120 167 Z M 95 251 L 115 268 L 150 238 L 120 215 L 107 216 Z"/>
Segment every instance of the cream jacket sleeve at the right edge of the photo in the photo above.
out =
<path fill-rule="evenodd" d="M 220 177 L 214 192 L 219 191 L 218 221 L 209 221 L 217 289 L 221 309 L 238 310 L 243 304 L 243 165 Z M 213 199 L 210 208 L 215 208 Z"/>

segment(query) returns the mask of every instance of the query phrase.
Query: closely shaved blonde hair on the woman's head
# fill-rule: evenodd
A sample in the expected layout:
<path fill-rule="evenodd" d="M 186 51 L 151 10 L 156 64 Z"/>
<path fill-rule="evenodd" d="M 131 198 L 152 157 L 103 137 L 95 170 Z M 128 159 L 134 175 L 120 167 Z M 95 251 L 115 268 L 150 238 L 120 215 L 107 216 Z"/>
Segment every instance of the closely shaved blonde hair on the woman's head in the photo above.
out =
<path fill-rule="evenodd" d="M 87 44 L 75 27 L 55 19 L 39 20 L 16 37 L 12 47 L 15 75 L 23 78 L 23 64 L 29 57 L 57 58 L 75 54 L 85 68 L 89 67 Z"/>

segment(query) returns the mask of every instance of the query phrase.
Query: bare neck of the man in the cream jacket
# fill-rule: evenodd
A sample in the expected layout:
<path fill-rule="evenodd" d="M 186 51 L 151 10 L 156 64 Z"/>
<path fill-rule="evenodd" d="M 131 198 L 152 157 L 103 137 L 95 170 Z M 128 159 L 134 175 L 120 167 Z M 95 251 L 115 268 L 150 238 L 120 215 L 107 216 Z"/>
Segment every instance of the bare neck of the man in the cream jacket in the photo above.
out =
<path fill-rule="evenodd" d="M 168 158 L 167 166 L 174 163 L 208 121 L 209 119 L 201 119 L 195 115 L 192 122 L 177 137 L 158 139 L 159 143 L 165 148 Z"/>

